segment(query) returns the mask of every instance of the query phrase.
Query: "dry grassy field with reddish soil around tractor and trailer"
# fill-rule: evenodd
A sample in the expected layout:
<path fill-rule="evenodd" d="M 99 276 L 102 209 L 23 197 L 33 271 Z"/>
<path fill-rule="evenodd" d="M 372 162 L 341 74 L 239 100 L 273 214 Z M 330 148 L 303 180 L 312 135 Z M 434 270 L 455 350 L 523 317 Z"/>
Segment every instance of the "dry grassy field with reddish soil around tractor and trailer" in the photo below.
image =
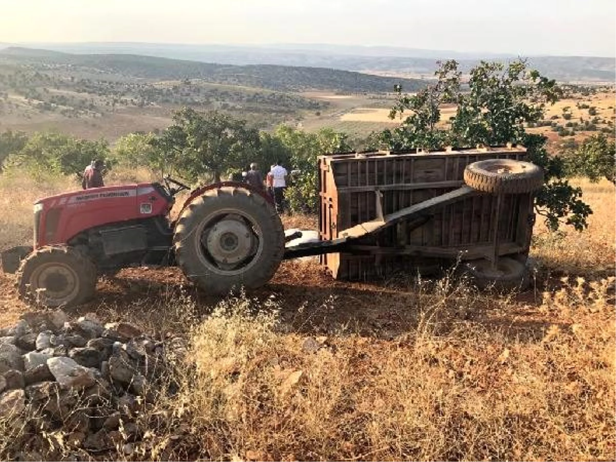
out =
<path fill-rule="evenodd" d="M 590 227 L 554 234 L 538 220 L 525 293 L 447 276 L 338 282 L 289 261 L 222 302 L 176 269 L 126 269 L 69 314 L 190 340 L 195 367 L 140 421 L 163 460 L 613 460 L 616 190 L 578 184 Z M 0 246 L 28 243 L 33 199 L 71 185 L 2 177 Z M 12 282 L 0 275 L 0 326 L 27 310 Z"/>

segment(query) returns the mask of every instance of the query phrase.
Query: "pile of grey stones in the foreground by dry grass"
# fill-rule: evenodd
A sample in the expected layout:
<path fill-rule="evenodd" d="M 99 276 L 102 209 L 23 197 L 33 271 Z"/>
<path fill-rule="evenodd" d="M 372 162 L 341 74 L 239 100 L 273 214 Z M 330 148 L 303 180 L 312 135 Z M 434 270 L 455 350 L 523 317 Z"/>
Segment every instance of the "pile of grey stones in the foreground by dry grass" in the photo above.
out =
<path fill-rule="evenodd" d="M 94 314 L 23 315 L 0 329 L 4 456 L 131 455 L 143 437 L 137 417 L 156 400 L 182 350 L 180 339 L 163 344 L 132 323 L 103 324 Z"/>

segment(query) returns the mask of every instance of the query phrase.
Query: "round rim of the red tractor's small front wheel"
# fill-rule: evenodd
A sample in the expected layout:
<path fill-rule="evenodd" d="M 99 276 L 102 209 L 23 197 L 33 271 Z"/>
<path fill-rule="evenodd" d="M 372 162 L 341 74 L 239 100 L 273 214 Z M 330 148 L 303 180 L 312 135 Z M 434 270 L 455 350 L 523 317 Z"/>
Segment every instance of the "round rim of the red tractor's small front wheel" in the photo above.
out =
<path fill-rule="evenodd" d="M 79 293 L 79 276 L 69 265 L 46 263 L 32 272 L 30 290 L 55 305 L 62 305 Z"/>

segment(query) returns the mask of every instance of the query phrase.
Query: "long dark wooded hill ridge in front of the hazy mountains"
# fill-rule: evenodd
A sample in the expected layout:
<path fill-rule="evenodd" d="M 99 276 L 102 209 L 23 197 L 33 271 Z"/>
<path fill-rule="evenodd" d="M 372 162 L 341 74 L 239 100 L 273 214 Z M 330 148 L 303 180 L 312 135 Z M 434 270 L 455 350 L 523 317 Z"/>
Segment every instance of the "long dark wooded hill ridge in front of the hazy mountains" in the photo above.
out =
<path fill-rule="evenodd" d="M 132 54 L 70 54 L 7 47 L 0 60 L 28 65 L 84 68 L 148 79 L 193 79 L 259 87 L 275 91 L 391 92 L 402 83 L 407 91 L 424 86 L 420 79 L 387 78 L 354 71 L 282 65 L 225 65 Z"/>

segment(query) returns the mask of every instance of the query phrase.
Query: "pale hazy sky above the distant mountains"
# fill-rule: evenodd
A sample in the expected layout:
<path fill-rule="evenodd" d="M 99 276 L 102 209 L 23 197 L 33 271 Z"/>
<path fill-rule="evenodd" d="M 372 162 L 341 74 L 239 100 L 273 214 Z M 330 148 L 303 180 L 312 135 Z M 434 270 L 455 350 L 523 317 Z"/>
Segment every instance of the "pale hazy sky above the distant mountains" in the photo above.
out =
<path fill-rule="evenodd" d="M 616 0 L 0 0 L 0 42 L 334 43 L 616 56 Z"/>

